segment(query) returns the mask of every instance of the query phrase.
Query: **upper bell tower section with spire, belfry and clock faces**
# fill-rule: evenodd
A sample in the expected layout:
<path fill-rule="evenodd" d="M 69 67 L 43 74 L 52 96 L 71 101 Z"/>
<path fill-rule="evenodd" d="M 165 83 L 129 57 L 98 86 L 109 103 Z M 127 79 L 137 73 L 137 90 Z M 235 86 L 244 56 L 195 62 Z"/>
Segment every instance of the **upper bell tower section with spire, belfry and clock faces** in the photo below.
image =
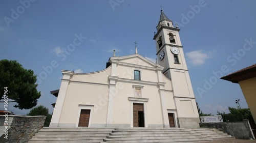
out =
<path fill-rule="evenodd" d="M 158 64 L 163 66 L 163 74 L 169 79 L 170 69 L 187 70 L 183 46 L 181 44 L 179 27 L 173 25 L 170 20 L 161 10 L 159 22 L 157 25 L 157 33 L 154 36 L 156 41 L 156 51 L 158 56 Z"/>

